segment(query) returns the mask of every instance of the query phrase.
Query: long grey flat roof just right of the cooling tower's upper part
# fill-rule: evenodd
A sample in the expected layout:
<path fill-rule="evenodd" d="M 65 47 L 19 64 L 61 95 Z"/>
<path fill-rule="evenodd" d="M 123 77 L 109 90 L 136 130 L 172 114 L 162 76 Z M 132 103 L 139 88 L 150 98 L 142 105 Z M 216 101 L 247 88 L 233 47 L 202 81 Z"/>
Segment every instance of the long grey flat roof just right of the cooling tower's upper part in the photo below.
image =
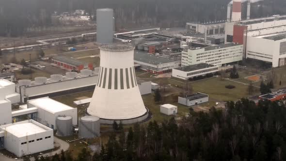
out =
<path fill-rule="evenodd" d="M 153 54 L 138 52 L 137 50 L 134 50 L 134 61 L 143 62 L 143 63 L 147 63 L 147 64 L 153 64 L 153 65 L 178 62 L 175 60 L 170 60 L 167 58 L 155 56 Z"/>

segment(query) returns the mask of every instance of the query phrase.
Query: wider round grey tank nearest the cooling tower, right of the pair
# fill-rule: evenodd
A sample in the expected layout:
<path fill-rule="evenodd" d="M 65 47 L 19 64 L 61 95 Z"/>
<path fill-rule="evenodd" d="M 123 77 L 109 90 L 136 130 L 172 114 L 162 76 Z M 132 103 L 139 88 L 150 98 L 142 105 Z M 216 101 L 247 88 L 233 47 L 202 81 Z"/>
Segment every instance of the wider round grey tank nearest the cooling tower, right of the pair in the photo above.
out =
<path fill-rule="evenodd" d="M 79 136 L 84 138 L 100 136 L 99 117 L 83 116 L 79 118 Z"/>

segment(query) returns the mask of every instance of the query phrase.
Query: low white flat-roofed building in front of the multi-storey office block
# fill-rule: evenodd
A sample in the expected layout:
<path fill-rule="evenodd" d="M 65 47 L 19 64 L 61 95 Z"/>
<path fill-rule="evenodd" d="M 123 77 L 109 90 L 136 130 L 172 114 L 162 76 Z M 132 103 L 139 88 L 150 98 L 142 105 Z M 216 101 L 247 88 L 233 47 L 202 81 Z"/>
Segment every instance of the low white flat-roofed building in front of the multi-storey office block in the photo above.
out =
<path fill-rule="evenodd" d="M 208 73 L 215 73 L 219 71 L 219 66 L 212 66 L 212 65 L 207 65 L 208 67 L 206 68 L 201 68 L 201 69 L 188 69 L 191 66 L 184 66 L 180 68 L 175 68 L 172 70 L 172 77 L 187 80 L 189 78 L 201 76 L 201 75 L 206 75 Z"/>

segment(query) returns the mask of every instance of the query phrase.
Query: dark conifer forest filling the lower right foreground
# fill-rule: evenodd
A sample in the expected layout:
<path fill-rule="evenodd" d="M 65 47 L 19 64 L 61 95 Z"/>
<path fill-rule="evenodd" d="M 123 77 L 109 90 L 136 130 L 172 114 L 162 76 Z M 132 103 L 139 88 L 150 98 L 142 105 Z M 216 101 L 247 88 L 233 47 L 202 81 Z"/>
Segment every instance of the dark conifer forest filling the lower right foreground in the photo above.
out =
<path fill-rule="evenodd" d="M 111 134 L 100 153 L 83 149 L 75 161 L 285 161 L 283 101 L 242 98 L 226 108 L 158 124 L 135 124 Z M 66 155 L 64 159 L 66 159 Z M 64 161 L 59 155 L 37 161 Z"/>

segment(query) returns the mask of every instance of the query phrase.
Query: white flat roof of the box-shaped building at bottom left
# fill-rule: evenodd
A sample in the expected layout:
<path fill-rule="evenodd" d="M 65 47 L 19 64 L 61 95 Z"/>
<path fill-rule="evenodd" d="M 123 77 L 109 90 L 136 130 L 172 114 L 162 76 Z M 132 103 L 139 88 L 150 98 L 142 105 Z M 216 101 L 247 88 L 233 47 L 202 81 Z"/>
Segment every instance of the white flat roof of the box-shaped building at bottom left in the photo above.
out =
<path fill-rule="evenodd" d="M 11 124 L 10 126 L 7 126 L 2 129 L 6 130 L 9 133 L 12 133 L 18 138 L 47 131 L 46 129 L 43 129 L 33 124 L 32 122 Z"/>

